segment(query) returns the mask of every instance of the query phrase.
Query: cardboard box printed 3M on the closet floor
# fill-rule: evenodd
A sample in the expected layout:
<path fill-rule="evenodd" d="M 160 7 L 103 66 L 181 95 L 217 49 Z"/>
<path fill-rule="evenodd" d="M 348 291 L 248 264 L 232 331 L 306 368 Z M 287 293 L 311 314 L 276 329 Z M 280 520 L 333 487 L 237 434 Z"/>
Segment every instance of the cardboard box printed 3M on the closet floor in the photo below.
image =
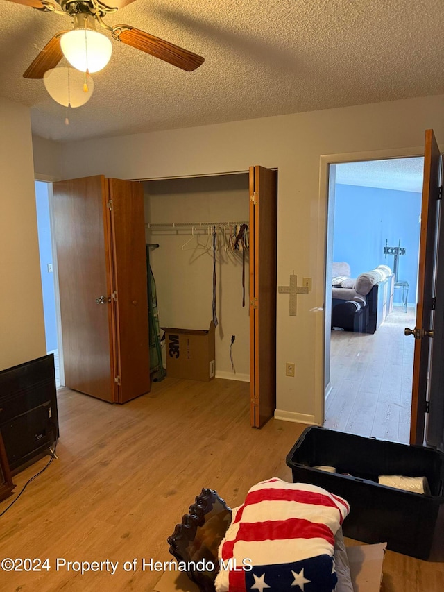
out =
<path fill-rule="evenodd" d="M 206 331 L 162 327 L 165 332 L 167 376 L 212 380 L 215 373 L 215 329 L 213 321 Z"/>

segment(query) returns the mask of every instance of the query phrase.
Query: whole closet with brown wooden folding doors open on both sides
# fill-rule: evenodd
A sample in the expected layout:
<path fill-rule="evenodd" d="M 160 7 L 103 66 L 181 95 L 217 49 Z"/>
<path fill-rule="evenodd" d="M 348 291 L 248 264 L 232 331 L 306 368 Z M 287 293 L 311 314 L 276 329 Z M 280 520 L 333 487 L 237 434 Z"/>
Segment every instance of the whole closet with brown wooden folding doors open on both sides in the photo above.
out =
<path fill-rule="evenodd" d="M 215 316 L 216 375 L 250 382 L 253 427 L 273 416 L 277 177 L 54 183 L 65 385 L 110 403 L 150 390 L 146 244 L 159 244 L 160 326 L 207 329 Z"/>

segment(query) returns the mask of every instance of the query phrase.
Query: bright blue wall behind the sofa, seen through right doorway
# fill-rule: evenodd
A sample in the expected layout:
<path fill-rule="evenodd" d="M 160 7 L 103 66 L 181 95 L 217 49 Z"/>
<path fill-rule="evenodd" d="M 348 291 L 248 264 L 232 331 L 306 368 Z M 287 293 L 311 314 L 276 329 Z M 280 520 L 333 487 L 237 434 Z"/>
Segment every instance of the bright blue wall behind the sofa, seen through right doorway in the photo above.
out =
<path fill-rule="evenodd" d="M 421 194 L 416 192 L 340 185 L 335 187 L 333 260 L 350 264 L 351 276 L 385 264 L 393 269 L 393 255 L 384 246 L 401 246 L 398 280 L 409 282 L 409 303 L 416 302 Z M 395 302 L 400 302 L 395 291 Z"/>

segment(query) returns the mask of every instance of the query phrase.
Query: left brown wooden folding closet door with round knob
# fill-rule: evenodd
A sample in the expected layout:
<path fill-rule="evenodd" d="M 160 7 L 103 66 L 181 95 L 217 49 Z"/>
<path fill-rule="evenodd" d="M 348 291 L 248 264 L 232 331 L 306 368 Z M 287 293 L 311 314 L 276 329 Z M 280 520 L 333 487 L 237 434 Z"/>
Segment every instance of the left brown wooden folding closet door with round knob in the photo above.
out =
<path fill-rule="evenodd" d="M 150 390 L 142 185 L 54 183 L 53 219 L 65 386 L 126 403 Z"/>

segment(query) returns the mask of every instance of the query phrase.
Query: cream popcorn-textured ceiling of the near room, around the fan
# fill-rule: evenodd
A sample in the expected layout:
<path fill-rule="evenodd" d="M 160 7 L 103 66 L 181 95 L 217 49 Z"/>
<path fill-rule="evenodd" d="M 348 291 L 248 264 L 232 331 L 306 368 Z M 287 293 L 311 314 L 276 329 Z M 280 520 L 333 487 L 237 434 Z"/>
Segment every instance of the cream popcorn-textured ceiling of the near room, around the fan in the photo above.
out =
<path fill-rule="evenodd" d="M 105 22 L 205 62 L 186 72 L 113 40 L 92 99 L 65 126 L 66 109 L 22 74 L 71 19 L 7 0 L 0 16 L 0 95 L 60 141 L 444 94 L 443 0 L 136 0 Z"/>

